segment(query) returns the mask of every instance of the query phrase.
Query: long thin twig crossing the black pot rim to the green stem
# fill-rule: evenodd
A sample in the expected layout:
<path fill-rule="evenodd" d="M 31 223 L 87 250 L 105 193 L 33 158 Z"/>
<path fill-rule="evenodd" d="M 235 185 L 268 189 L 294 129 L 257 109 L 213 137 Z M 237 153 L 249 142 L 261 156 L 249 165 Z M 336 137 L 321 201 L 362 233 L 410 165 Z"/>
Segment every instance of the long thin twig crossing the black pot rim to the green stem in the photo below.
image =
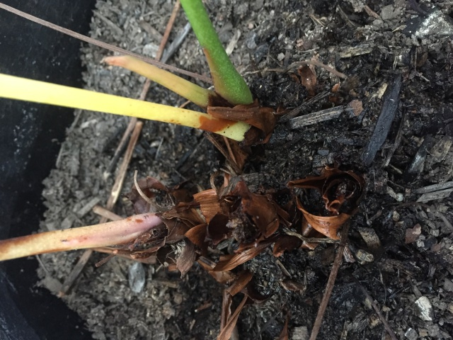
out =
<path fill-rule="evenodd" d="M 48 27 L 48 28 L 52 28 L 53 30 L 57 30 L 58 32 L 64 33 L 64 34 L 69 35 L 69 36 L 71 36 L 73 38 L 76 38 L 76 39 L 91 43 L 91 44 L 99 46 L 99 47 L 103 47 L 103 48 L 105 48 L 107 50 L 110 50 L 110 51 L 113 51 L 113 52 L 119 52 L 119 53 L 122 53 L 124 55 L 132 55 L 132 57 L 136 57 L 139 60 L 143 60 L 144 62 L 148 62 L 149 64 L 153 64 L 153 65 L 161 67 L 163 69 L 168 69 L 170 71 L 177 72 L 177 73 L 180 73 L 180 74 L 185 74 L 188 77 L 193 77 L 195 79 L 200 79 L 201 81 L 205 81 L 205 82 L 207 82 L 209 84 L 212 84 L 212 79 L 210 79 L 209 77 L 201 76 L 200 74 L 195 74 L 193 72 L 188 72 L 188 71 L 185 71 L 184 69 L 179 69 L 178 67 L 167 65 L 167 64 L 164 64 L 163 62 L 157 62 L 156 60 L 153 60 L 153 59 L 147 58 L 147 57 L 143 57 L 142 55 L 137 55 L 137 53 L 129 52 L 129 51 L 124 50 L 124 49 L 122 49 L 120 47 L 116 47 L 116 46 L 107 44 L 105 42 L 98 41 L 98 40 L 93 39 L 93 38 L 88 38 L 85 35 L 82 35 L 80 33 L 74 32 L 73 30 L 68 30 L 67 28 L 55 25 L 54 23 L 50 23 L 49 21 L 42 20 L 42 19 L 37 18 L 35 16 L 31 16 L 30 14 L 25 13 L 23 11 L 19 11 L 18 9 L 13 8 L 11 6 L 7 6 L 5 4 L 1 4 L 0 3 L 0 8 L 4 9 L 5 11 L 14 13 L 14 14 L 16 14 L 18 16 L 21 16 L 21 17 L 23 17 L 25 19 L 28 19 L 30 21 L 33 21 L 35 23 L 39 23 L 42 26 L 45 26 L 45 27 Z"/>

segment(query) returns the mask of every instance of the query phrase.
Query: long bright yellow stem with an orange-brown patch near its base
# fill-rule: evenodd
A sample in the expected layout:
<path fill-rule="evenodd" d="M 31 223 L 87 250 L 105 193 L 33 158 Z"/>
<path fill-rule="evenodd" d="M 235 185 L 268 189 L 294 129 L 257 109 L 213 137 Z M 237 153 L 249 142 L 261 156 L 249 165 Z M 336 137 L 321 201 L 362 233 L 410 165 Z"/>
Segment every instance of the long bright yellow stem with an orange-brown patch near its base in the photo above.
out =
<path fill-rule="evenodd" d="M 185 125 L 241 141 L 250 125 L 206 113 L 0 74 L 0 97 Z"/>

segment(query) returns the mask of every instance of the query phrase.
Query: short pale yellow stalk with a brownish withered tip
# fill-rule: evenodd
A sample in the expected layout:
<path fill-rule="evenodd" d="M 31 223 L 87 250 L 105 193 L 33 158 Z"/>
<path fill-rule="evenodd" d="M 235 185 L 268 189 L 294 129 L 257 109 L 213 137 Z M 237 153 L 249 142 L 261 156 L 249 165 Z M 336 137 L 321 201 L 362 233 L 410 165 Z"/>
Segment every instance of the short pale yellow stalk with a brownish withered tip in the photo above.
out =
<path fill-rule="evenodd" d="M 138 60 L 130 55 L 105 57 L 103 62 L 106 62 L 112 66 L 129 69 L 130 71 L 140 74 L 143 77 L 147 77 L 148 79 L 155 81 L 157 84 L 161 84 L 176 94 L 192 101 L 201 108 L 207 107 L 210 96 L 217 96 L 214 91 L 204 89 L 197 84 L 193 84 L 188 80 L 176 76 L 176 74 L 168 72 L 165 69 L 159 69 L 159 67 L 155 67 L 147 62 Z"/>

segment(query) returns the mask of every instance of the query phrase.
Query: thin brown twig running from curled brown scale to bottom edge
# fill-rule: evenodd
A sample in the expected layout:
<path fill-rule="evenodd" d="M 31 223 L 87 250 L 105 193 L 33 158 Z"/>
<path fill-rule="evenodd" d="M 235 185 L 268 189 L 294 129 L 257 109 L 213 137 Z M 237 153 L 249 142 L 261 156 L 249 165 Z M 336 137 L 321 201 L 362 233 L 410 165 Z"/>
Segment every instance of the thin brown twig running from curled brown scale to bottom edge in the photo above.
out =
<path fill-rule="evenodd" d="M 335 280 L 337 278 L 338 269 L 340 269 L 341 259 L 343 258 L 343 251 L 345 250 L 346 240 L 348 239 L 349 226 L 350 226 L 349 222 L 346 222 L 345 225 L 343 225 L 343 230 L 341 231 L 340 245 L 338 246 L 337 249 L 335 261 L 333 261 L 331 275 L 328 277 L 326 290 L 324 291 L 323 295 L 323 300 L 321 300 L 321 304 L 319 305 L 318 314 L 316 315 L 313 329 L 311 329 L 311 335 L 309 340 L 316 340 L 316 337 L 318 336 L 319 333 L 319 329 L 321 329 L 321 323 L 323 322 L 323 317 L 324 313 L 326 312 L 328 300 L 331 297 L 333 286 L 335 285 Z"/>

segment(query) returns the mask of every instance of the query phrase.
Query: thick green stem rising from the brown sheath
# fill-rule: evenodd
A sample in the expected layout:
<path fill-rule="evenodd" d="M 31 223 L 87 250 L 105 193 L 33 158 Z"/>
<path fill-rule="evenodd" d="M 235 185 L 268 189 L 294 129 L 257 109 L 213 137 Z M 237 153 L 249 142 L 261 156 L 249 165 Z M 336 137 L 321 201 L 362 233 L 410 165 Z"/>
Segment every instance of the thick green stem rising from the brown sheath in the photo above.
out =
<path fill-rule="evenodd" d="M 233 105 L 253 103 L 251 91 L 226 55 L 202 1 L 180 1 L 197 40 L 205 52 L 217 94 Z"/>

